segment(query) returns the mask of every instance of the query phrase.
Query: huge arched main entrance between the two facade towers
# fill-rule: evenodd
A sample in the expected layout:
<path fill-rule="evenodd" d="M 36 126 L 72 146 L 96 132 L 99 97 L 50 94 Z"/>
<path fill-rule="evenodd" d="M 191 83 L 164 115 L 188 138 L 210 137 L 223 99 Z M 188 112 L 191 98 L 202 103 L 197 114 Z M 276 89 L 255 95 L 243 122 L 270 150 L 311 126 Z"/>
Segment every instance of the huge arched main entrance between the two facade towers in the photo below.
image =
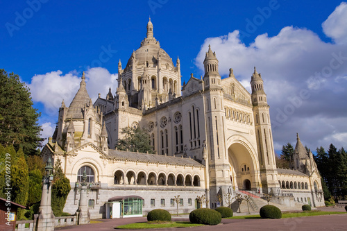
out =
<path fill-rule="evenodd" d="M 257 191 L 260 176 L 257 159 L 244 142 L 235 142 L 228 148 L 230 180 L 234 189 Z"/>

